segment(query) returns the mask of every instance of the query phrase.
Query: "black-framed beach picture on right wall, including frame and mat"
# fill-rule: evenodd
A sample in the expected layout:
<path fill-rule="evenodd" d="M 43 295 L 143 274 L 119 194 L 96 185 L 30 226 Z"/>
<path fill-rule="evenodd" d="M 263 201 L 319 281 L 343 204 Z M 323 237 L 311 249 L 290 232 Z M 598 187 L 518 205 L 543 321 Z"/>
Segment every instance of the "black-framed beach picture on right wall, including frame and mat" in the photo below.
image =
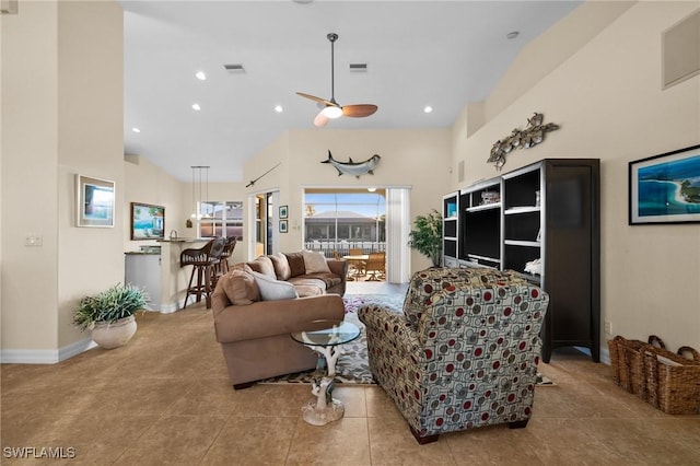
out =
<path fill-rule="evenodd" d="M 630 162 L 630 225 L 693 222 L 700 222 L 700 145 Z"/>

